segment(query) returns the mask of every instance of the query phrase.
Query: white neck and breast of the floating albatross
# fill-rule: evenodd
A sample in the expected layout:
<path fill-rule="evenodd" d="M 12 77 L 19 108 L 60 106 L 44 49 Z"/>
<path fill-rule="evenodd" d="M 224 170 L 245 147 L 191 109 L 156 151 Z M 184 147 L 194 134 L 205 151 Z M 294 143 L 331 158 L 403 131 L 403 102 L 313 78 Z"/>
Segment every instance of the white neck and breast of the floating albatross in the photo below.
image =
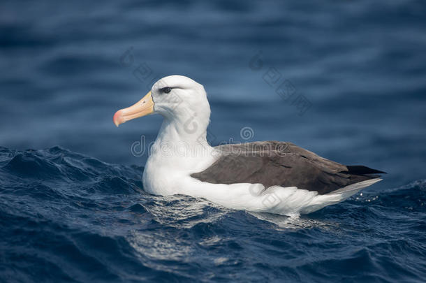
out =
<path fill-rule="evenodd" d="M 214 148 L 206 140 L 209 119 L 198 117 L 165 117 L 145 164 L 142 182 L 146 191 L 173 194 L 173 188 L 179 187 L 176 180 L 183 180 L 213 164 Z"/>

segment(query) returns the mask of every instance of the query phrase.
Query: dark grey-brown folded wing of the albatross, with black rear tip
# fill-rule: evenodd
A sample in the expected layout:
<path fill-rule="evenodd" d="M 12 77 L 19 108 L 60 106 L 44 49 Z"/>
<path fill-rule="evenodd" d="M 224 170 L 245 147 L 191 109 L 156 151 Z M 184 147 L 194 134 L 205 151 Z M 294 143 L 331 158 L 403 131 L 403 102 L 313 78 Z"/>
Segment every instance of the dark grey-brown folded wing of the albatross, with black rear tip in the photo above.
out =
<path fill-rule="evenodd" d="M 214 184 L 260 183 L 267 187 L 298 187 L 328 194 L 384 173 L 365 166 L 345 166 L 293 143 L 265 141 L 221 145 L 219 158 L 206 170 L 191 174 Z"/>

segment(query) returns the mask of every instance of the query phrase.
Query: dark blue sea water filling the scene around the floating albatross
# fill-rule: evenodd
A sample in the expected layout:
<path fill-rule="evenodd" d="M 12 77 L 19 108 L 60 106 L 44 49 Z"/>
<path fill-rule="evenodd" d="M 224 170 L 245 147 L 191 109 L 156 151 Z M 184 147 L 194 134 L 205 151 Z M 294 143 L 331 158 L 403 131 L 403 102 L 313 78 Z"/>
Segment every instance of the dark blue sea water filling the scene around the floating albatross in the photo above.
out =
<path fill-rule="evenodd" d="M 1 1 L 0 281 L 424 280 L 425 3 L 278 2 Z M 170 74 L 205 85 L 213 144 L 288 140 L 388 175 L 300 219 L 146 194 L 131 145 L 161 117 L 112 115 Z"/>

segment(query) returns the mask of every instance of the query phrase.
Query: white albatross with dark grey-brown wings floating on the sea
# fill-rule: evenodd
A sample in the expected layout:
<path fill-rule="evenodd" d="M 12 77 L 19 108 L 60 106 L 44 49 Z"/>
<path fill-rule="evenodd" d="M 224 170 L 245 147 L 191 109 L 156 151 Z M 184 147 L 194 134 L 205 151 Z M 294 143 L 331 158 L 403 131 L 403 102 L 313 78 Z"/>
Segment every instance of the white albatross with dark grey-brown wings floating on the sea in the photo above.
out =
<path fill-rule="evenodd" d="M 210 104 L 203 85 L 169 75 L 113 122 L 159 114 L 163 123 L 149 150 L 142 184 L 149 194 L 205 198 L 234 210 L 298 216 L 346 200 L 381 181 L 381 170 L 346 166 L 290 142 L 207 142 Z"/>

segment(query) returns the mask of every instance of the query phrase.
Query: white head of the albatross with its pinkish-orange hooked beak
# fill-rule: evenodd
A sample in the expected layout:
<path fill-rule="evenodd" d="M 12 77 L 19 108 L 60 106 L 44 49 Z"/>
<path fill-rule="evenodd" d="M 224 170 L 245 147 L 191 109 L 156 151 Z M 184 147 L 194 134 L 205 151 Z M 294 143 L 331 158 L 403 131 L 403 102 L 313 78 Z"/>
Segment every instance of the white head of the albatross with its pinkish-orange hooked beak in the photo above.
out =
<path fill-rule="evenodd" d="M 210 119 L 210 105 L 203 85 L 183 75 L 170 75 L 158 80 L 150 92 L 133 106 L 118 110 L 114 124 L 158 113 L 175 126 L 189 128 L 196 122 L 205 131 Z"/>

